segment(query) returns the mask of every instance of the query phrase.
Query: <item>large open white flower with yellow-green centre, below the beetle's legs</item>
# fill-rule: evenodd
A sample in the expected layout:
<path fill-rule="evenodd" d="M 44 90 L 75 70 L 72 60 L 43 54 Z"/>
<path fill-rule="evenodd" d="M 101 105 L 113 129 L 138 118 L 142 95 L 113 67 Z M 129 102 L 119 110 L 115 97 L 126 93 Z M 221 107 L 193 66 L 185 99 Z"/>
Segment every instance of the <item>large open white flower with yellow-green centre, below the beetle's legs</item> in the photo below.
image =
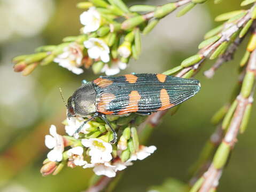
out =
<path fill-rule="evenodd" d="M 103 140 L 90 138 L 82 139 L 82 145 L 90 149 L 89 156 L 91 156 L 91 163 L 105 163 L 112 159 L 112 146 Z"/>

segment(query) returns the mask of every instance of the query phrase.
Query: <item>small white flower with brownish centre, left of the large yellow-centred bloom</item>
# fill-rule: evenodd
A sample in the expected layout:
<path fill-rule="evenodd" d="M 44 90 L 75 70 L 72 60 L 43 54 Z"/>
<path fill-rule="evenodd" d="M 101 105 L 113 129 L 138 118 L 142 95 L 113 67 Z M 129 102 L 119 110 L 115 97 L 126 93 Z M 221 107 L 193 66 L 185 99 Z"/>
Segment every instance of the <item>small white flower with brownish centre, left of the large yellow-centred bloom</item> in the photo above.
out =
<path fill-rule="evenodd" d="M 69 161 L 73 161 L 77 166 L 83 166 L 87 164 L 86 161 L 83 160 L 83 148 L 82 147 L 74 147 L 67 151 L 67 155 L 69 157 Z"/>

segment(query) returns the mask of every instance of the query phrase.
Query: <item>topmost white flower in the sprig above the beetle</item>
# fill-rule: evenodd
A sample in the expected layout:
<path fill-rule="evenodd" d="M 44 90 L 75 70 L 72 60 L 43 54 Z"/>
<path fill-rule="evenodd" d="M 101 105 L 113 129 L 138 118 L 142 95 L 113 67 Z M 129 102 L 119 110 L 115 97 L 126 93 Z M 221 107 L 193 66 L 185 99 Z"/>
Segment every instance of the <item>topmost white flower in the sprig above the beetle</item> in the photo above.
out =
<path fill-rule="evenodd" d="M 80 22 L 84 25 L 83 33 L 87 34 L 96 31 L 101 22 L 100 14 L 95 7 L 90 7 L 88 11 L 85 11 L 80 15 Z"/>

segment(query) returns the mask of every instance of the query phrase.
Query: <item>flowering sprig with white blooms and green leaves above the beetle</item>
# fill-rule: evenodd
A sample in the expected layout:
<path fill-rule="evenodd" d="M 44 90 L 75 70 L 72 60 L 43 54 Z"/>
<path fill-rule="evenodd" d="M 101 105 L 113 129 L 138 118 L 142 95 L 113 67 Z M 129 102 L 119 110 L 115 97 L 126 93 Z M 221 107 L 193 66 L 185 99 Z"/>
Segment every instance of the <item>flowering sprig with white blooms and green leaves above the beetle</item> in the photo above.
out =
<path fill-rule="evenodd" d="M 38 66 L 55 62 L 79 75 L 83 68 L 92 68 L 95 74 L 115 75 L 126 69 L 130 58 L 141 53 L 141 34 L 148 34 L 169 13 L 186 5 L 178 16 L 187 13 L 198 3 L 190 0 L 161 6 L 134 5 L 127 7 L 122 0 L 90 0 L 77 7 L 83 26 L 80 35 L 65 37 L 59 45 L 38 47 L 35 54 L 13 59 L 14 71 L 29 75 Z M 143 13 L 143 14 L 142 14 Z"/>

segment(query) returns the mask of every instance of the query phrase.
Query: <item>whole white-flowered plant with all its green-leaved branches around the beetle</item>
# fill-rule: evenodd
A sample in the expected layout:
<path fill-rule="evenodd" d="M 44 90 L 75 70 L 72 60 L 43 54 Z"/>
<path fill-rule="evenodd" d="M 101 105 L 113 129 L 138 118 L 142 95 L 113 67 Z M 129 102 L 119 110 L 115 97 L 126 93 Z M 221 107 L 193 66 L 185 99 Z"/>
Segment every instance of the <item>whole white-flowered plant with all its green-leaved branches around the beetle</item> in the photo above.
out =
<path fill-rule="evenodd" d="M 112 76 L 126 69 L 131 59 L 137 60 L 142 52 L 141 38 L 157 27 L 161 19 L 172 14 L 178 7 L 177 17 L 181 17 L 194 6 L 207 0 L 180 0 L 164 5 L 133 5 L 128 7 L 122 0 L 89 0 L 77 4 L 83 10 L 80 15 L 81 30 L 77 36 L 68 36 L 59 45 L 38 47 L 35 53 L 20 55 L 13 59 L 14 71 L 27 76 L 36 68 L 45 65 L 64 67 L 77 75 L 84 70 L 95 74 Z M 220 0 L 214 1 L 216 4 Z M 175 186 L 179 191 L 216 191 L 219 180 L 235 147 L 239 133 L 244 133 L 249 122 L 256 76 L 256 0 L 245 0 L 241 10 L 223 13 L 215 18 L 221 24 L 208 31 L 204 41 L 198 45 L 199 51 L 184 59 L 180 65 L 162 74 L 190 78 L 195 76 L 206 60 L 216 60 L 212 67 L 204 71 L 212 78 L 224 63 L 233 59 L 244 39 L 248 41 L 244 56 L 237 66 L 239 79 L 237 87 L 227 104 L 212 118 L 216 131 L 207 141 L 198 161 L 191 167 L 190 182 L 182 183 L 167 179 L 161 186 L 153 186 L 149 191 L 170 191 Z M 184 23 L 185 25 L 185 23 Z M 245 38 L 249 36 L 250 38 Z M 247 40 L 249 39 L 249 40 Z M 242 50 L 239 50 L 242 51 Z M 195 51 L 196 52 L 196 51 Z M 177 111 L 172 108 L 170 115 Z M 153 127 L 157 126 L 166 110 L 151 116 L 130 114 L 127 116 L 107 116 L 118 140 L 113 138 L 110 127 L 100 118 L 88 122 L 77 135 L 75 131 L 87 118 L 67 117 L 63 121 L 66 134 L 57 133 L 51 125 L 45 135 L 45 146 L 49 148 L 43 162 L 42 175 L 58 174 L 64 166 L 81 166 L 93 169 L 93 177 L 87 191 L 106 189 L 117 183 L 123 170 L 142 161 L 156 151 L 156 146 L 146 146 Z M 88 116 L 90 118 L 90 116 Z M 232 158 L 230 159 L 232 161 Z M 61 174 L 61 173 L 60 173 Z M 113 188 L 113 185 L 112 185 Z"/>

